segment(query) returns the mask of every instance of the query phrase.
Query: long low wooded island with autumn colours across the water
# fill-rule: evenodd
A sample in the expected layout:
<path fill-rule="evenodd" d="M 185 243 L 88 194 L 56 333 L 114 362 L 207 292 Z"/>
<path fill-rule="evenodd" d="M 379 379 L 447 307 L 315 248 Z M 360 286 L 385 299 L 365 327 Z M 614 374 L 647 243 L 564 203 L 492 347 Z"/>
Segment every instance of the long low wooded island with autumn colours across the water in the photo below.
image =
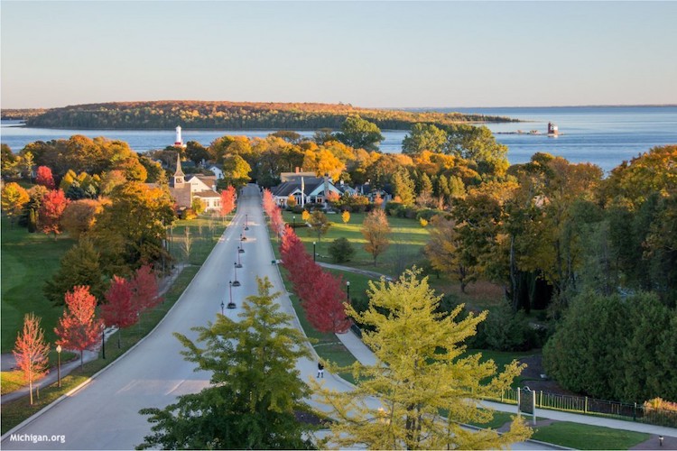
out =
<path fill-rule="evenodd" d="M 409 130 L 415 123 L 511 122 L 499 116 L 413 113 L 357 108 L 343 104 L 155 101 L 117 102 L 54 108 L 28 119 L 48 128 L 164 129 L 338 129 L 348 115 L 360 115 L 381 129 Z"/>

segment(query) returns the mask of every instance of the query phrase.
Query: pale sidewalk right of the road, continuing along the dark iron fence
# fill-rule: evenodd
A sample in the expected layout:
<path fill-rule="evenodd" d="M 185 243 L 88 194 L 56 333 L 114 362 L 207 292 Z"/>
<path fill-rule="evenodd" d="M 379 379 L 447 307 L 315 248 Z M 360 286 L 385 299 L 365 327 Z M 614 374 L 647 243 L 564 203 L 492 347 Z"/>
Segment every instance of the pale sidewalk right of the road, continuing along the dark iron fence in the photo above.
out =
<path fill-rule="evenodd" d="M 352 331 L 348 330 L 345 334 L 337 334 L 338 339 L 346 346 L 350 354 L 353 354 L 357 361 L 361 364 L 373 365 L 376 364 L 376 357 L 371 350 L 366 347 L 360 338 L 358 338 Z M 517 413 L 517 406 L 512 404 L 502 404 L 500 402 L 492 402 L 483 400 L 483 405 L 490 409 Z M 564 412 L 561 410 L 546 410 L 536 409 L 536 416 L 544 419 L 554 419 L 557 421 L 570 421 L 571 423 L 588 424 L 592 426 L 602 426 L 605 428 L 631 430 L 635 432 L 645 432 L 654 436 L 665 437 L 663 442 L 664 449 L 677 448 L 677 428 L 666 428 L 664 426 L 654 426 L 645 423 L 636 423 L 634 421 L 624 421 L 622 419 L 607 419 L 604 417 L 597 417 L 593 415 L 580 415 L 577 413 Z M 529 416 L 530 417 L 530 416 Z M 658 442 L 655 442 L 658 446 Z"/>

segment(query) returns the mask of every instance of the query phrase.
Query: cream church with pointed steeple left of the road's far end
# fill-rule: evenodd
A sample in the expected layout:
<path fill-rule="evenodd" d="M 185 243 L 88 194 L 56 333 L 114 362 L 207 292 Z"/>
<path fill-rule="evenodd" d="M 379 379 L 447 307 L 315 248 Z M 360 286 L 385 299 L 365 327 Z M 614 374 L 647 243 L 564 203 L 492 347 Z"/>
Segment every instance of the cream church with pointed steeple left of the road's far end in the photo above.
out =
<path fill-rule="evenodd" d="M 190 208 L 193 199 L 202 200 L 205 211 L 214 211 L 221 208 L 221 196 L 217 192 L 216 177 L 202 174 L 191 174 L 186 177 L 181 170 L 181 156 L 176 156 L 176 171 L 170 181 L 170 194 L 176 205 Z"/>

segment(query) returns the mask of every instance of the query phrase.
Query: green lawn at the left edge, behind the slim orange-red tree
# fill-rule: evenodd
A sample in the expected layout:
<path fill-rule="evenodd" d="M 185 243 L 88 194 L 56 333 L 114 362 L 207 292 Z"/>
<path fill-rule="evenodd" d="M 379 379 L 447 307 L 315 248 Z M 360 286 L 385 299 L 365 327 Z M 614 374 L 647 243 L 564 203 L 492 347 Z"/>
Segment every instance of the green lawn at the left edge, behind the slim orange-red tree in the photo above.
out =
<path fill-rule="evenodd" d="M 19 329 L 23 326 L 23 315 L 34 312 L 42 318 L 41 326 L 45 339 L 53 342 L 54 327 L 62 308 L 54 307 L 42 295 L 42 286 L 54 272 L 59 270 L 60 259 L 75 244 L 67 236 L 53 236 L 40 233 L 29 234 L 14 225 L 10 230 L 9 221 L 2 217 L 2 283 L 0 283 L 0 312 L 2 313 L 2 352 L 11 352 Z"/>

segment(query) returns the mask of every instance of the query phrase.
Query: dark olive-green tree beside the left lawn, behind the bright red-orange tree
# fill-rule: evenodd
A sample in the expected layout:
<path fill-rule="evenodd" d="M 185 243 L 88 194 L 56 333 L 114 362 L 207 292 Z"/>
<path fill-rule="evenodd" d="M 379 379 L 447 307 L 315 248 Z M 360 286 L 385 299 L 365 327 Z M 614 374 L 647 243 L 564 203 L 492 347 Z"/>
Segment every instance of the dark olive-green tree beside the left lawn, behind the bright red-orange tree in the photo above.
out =
<path fill-rule="evenodd" d="M 104 294 L 103 273 L 99 263 L 100 254 L 87 237 L 81 237 L 78 244 L 63 254 L 59 270 L 54 273 L 42 289 L 45 298 L 55 305 L 63 305 L 64 295 L 77 285 L 86 285 L 95 298 Z"/>

